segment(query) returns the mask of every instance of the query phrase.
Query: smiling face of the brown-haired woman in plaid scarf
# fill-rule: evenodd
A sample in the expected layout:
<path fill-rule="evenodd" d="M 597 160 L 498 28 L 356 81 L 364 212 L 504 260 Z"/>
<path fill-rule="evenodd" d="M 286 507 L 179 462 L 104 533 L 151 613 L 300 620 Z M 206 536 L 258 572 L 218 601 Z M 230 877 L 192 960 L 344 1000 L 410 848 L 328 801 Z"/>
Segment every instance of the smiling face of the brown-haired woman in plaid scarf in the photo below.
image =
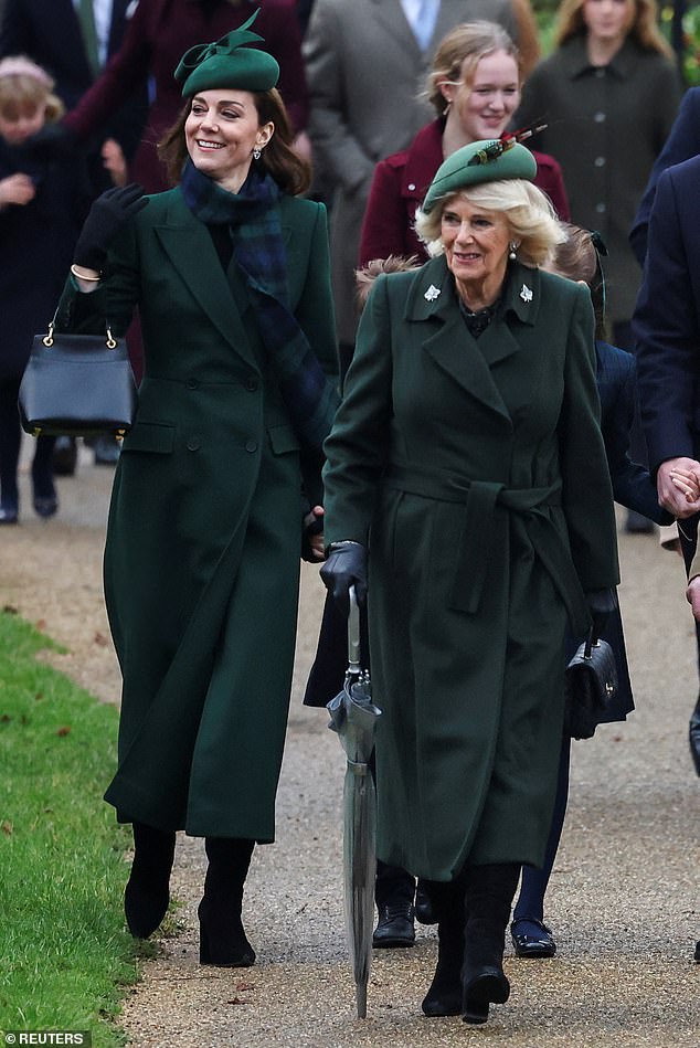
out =
<path fill-rule="evenodd" d="M 199 171 L 237 192 L 251 168 L 253 149 L 264 148 L 273 130 L 273 124 L 261 126 L 250 91 L 201 91 L 192 98 L 184 140 Z"/>

